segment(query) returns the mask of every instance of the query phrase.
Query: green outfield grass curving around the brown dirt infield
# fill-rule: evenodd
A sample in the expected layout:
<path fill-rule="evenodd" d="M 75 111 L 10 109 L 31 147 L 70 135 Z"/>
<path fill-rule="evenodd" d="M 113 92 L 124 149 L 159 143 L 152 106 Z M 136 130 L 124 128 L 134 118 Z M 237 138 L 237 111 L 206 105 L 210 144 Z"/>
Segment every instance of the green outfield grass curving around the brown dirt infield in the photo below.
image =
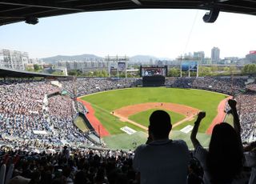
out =
<path fill-rule="evenodd" d="M 106 127 L 106 130 L 108 130 L 110 134 L 122 134 L 123 132 L 120 130 L 122 126 L 131 126 L 128 122 L 120 122 L 110 114 L 111 111 L 119 109 L 122 106 L 130 106 L 144 102 L 173 102 L 206 111 L 206 118 L 202 120 L 201 126 L 199 127 L 199 132 L 205 133 L 218 113 L 218 103 L 225 97 L 225 94 L 204 90 L 140 87 L 90 94 L 82 97 L 82 100 L 86 100 L 92 104 L 96 117 L 102 122 L 102 125 Z M 191 123 L 194 123 L 194 121 L 185 122 L 184 125 L 178 126 L 175 130 Z M 139 129 L 137 126 L 131 128 L 134 130 Z"/>

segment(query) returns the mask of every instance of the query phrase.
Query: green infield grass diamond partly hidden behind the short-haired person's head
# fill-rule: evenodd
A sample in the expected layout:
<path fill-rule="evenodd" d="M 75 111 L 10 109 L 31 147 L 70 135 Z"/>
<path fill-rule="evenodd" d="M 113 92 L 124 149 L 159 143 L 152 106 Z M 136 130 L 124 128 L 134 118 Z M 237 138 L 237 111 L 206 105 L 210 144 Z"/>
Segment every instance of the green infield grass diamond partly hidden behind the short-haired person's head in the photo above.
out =
<path fill-rule="evenodd" d="M 139 112 L 137 114 L 129 116 L 130 120 L 133 120 L 134 122 L 138 122 L 142 126 L 149 126 L 149 118 L 150 114 L 152 114 L 156 109 L 151 109 L 151 110 L 145 110 L 142 112 Z M 186 118 L 182 114 L 174 113 L 169 110 L 165 110 L 168 114 L 170 114 L 171 122 L 174 125 L 176 122 L 181 121 L 182 119 Z"/>

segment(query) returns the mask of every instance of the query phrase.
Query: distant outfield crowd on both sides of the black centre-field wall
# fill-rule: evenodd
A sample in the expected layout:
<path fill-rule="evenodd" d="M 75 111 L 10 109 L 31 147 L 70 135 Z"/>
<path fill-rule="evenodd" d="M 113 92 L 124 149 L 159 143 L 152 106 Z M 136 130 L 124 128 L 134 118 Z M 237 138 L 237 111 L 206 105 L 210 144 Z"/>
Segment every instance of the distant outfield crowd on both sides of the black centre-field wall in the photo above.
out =
<path fill-rule="evenodd" d="M 226 94 L 237 94 L 246 89 L 247 78 L 212 77 L 212 78 L 166 78 L 167 87 L 198 88 L 214 90 Z M 92 94 L 104 90 L 142 86 L 142 78 L 78 78 L 77 82 L 62 81 L 63 89 L 77 95 Z"/>

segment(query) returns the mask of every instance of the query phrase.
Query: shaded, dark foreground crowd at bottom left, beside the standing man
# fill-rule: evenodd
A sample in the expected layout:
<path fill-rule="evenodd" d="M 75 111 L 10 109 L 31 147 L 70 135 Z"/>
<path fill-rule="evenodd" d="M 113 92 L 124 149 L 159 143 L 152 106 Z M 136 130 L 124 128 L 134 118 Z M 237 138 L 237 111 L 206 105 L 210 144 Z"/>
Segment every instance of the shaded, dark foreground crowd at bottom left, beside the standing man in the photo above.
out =
<path fill-rule="evenodd" d="M 14 163 L 10 183 L 137 183 L 131 150 L 88 150 L 64 146 L 56 153 L 47 154 L 48 150 L 35 153 L 2 149 L 0 157 L 7 170 Z"/>

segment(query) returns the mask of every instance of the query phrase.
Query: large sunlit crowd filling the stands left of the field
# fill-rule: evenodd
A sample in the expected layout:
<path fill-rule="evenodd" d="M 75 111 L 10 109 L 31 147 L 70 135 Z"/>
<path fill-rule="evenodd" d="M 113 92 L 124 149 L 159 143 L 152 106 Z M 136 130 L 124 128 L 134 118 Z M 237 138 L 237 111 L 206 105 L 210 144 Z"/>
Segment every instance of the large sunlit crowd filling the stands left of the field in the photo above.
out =
<path fill-rule="evenodd" d="M 60 91 L 50 82 L 1 82 L 0 134 L 46 145 L 92 144 L 74 126 L 74 102 Z"/>

